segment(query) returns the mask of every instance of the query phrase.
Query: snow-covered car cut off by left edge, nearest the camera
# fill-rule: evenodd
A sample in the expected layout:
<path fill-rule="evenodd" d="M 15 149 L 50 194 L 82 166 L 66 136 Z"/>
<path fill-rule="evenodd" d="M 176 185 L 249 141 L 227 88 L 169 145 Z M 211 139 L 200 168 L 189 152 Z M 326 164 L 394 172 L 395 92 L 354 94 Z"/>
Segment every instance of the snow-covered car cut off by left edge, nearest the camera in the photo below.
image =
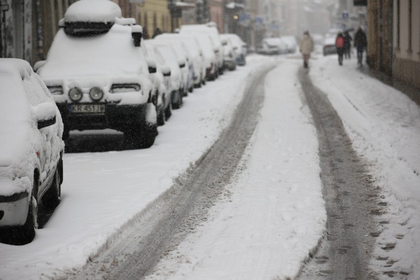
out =
<path fill-rule="evenodd" d="M 63 122 L 28 62 L 0 58 L 0 241 L 31 242 L 37 205 L 55 208 L 63 182 Z"/>

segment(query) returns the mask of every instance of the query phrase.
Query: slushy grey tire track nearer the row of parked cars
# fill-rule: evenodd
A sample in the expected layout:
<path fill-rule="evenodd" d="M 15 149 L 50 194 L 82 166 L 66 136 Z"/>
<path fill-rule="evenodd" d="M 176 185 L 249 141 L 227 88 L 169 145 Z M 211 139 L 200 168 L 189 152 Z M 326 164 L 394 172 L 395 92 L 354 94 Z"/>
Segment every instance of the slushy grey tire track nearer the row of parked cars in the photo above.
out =
<path fill-rule="evenodd" d="M 258 122 L 269 70 L 254 73 L 231 124 L 199 164 L 177 178 L 172 193 L 80 271 L 65 279 L 139 280 L 201 222 L 236 171 Z"/>

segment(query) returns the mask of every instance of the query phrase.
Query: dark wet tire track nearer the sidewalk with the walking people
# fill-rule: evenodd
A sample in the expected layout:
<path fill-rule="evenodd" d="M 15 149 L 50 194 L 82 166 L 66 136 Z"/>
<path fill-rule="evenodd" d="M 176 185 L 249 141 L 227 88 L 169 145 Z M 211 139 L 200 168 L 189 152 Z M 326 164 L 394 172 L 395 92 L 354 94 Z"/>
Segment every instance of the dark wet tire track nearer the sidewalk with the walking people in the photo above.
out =
<path fill-rule="evenodd" d="M 375 279 L 368 269 L 378 214 L 371 177 L 351 147 L 343 123 L 326 95 L 298 72 L 319 141 L 321 180 L 327 210 L 327 233 L 302 268 L 300 280 Z"/>

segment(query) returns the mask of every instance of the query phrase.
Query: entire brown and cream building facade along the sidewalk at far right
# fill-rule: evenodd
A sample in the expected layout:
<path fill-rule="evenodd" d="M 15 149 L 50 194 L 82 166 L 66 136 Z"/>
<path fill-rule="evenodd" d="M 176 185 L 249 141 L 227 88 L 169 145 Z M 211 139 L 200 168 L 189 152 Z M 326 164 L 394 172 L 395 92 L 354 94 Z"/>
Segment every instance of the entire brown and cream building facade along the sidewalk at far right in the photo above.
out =
<path fill-rule="evenodd" d="M 420 88 L 419 11 L 420 1 L 416 0 L 368 1 L 369 67 L 417 88 Z"/>

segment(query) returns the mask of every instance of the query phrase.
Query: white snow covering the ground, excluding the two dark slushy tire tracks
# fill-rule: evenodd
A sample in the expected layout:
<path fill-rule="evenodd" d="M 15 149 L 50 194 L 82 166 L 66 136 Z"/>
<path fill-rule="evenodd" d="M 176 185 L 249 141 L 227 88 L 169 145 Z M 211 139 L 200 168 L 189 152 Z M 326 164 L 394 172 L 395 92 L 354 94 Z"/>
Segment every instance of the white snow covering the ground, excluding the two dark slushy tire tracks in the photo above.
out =
<path fill-rule="evenodd" d="M 31 244 L 0 244 L 0 279 L 46 279 L 84 265 L 208 151 L 250 75 L 271 63 L 279 65 L 265 81 L 261 120 L 228 195 L 149 279 L 294 278 L 325 231 L 316 132 L 296 78 L 301 59 L 255 55 L 188 95 L 151 148 L 65 154 L 62 203 Z M 339 67 L 336 56 L 315 55 L 309 74 L 387 202 L 372 269 L 384 279 L 384 271 L 420 279 L 419 106 L 359 72 L 354 58 Z M 381 249 L 387 244 L 395 248 Z M 396 262 L 385 267 L 377 257 Z"/>

